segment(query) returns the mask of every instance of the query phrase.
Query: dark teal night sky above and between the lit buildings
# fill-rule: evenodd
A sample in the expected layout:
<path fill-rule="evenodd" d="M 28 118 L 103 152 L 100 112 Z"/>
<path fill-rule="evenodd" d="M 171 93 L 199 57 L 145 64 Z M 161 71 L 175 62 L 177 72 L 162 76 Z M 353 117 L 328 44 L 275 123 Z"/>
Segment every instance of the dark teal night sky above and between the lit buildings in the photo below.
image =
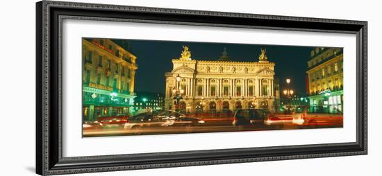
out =
<path fill-rule="evenodd" d="M 135 91 L 164 94 L 165 72 L 172 71 L 172 59 L 180 58 L 182 45 L 188 46 L 195 60 L 217 60 L 224 47 L 232 61 L 257 62 L 260 48 L 267 49 L 267 58 L 274 62 L 281 89 L 285 79 L 291 78 L 290 87 L 301 96 L 306 95 L 305 76 L 312 46 L 277 46 L 261 44 L 225 44 L 210 42 L 173 42 L 137 39 L 113 39 L 137 57 Z"/>

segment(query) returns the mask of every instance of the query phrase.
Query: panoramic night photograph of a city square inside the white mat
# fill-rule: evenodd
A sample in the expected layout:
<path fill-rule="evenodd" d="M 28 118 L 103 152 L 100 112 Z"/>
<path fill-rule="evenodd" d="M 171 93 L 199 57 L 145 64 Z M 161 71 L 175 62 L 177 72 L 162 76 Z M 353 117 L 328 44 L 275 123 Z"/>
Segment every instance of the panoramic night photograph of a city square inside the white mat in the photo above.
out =
<path fill-rule="evenodd" d="M 83 137 L 343 127 L 343 48 L 82 39 Z"/>

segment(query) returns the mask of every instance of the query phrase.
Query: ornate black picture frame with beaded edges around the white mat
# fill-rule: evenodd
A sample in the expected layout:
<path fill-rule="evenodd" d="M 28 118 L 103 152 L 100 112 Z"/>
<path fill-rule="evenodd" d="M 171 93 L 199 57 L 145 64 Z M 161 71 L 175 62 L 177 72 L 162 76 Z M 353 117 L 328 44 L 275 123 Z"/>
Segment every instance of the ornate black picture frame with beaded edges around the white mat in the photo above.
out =
<path fill-rule="evenodd" d="M 367 21 L 40 1 L 36 4 L 36 173 L 232 164 L 367 154 Z M 63 157 L 60 26 L 63 19 L 141 21 L 271 30 L 356 34 L 356 142 L 301 146 Z"/>

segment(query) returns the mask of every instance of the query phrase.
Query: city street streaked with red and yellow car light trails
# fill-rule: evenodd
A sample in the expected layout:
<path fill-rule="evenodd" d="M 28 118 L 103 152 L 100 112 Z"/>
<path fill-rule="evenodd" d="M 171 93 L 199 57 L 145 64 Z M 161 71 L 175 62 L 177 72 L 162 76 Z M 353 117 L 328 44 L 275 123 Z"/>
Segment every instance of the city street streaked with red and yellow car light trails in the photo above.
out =
<path fill-rule="evenodd" d="M 179 133 L 200 133 L 200 132 L 243 132 L 260 130 L 298 130 L 327 127 L 342 127 L 342 115 L 315 114 L 314 123 L 294 124 L 290 118 L 283 118 L 283 123 L 277 125 L 232 125 L 232 121 L 207 121 L 205 125 L 194 127 L 179 126 L 155 126 L 140 127 L 139 129 L 124 129 L 124 127 L 103 127 L 100 129 L 83 130 L 83 137 L 108 137 L 143 134 L 179 134 Z M 310 117 L 313 118 L 314 116 Z"/>

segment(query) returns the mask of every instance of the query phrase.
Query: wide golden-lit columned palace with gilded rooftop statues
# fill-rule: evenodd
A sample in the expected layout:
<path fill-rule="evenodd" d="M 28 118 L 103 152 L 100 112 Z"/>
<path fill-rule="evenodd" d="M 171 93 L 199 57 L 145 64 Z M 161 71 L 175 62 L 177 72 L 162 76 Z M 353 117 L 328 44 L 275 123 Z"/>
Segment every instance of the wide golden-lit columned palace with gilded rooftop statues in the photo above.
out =
<path fill-rule="evenodd" d="M 183 46 L 181 58 L 165 73 L 165 109 L 184 112 L 274 109 L 274 63 L 261 50 L 258 61 L 231 60 L 226 49 L 217 60 L 191 58 Z"/>

